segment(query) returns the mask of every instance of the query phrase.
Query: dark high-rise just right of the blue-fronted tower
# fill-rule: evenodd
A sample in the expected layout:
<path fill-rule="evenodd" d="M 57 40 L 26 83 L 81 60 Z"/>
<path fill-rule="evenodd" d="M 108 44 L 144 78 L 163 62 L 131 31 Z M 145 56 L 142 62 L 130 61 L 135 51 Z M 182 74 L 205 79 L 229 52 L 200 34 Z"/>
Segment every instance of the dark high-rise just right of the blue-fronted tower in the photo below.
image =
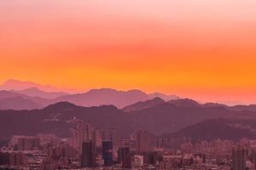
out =
<path fill-rule="evenodd" d="M 119 149 L 118 161 L 123 168 L 131 168 L 131 153 L 129 147 L 122 147 Z"/>

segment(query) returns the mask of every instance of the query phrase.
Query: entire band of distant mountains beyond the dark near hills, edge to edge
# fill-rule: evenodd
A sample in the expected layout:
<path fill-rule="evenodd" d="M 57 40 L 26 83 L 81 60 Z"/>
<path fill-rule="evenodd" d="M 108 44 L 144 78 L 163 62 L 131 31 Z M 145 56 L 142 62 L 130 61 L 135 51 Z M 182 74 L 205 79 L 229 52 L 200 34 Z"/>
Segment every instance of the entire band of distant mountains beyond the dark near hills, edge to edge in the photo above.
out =
<path fill-rule="evenodd" d="M 2 89 L 2 90 L 1 90 Z M 9 90 L 4 90 L 9 89 Z M 51 90 L 50 92 L 44 91 Z M 34 82 L 9 80 L 0 85 L 0 110 L 33 110 L 43 109 L 47 105 L 67 101 L 74 105 L 100 106 L 115 105 L 122 111 L 131 112 L 160 105 L 166 101 L 183 107 L 223 107 L 230 111 L 256 111 L 256 105 L 228 106 L 218 103 L 201 104 L 192 99 L 179 99 L 176 95 L 160 93 L 146 94 L 141 90 L 119 91 L 112 88 L 91 89 L 80 94 L 67 94 L 52 91 L 56 88 Z"/>

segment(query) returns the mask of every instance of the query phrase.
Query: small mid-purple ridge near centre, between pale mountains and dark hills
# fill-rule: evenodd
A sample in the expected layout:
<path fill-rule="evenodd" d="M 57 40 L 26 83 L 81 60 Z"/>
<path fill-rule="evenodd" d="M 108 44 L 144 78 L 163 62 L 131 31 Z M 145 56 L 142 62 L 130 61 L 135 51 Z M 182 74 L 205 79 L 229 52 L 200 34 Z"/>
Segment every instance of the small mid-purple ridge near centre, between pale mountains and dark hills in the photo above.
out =
<path fill-rule="evenodd" d="M 137 102 L 136 104 L 133 104 L 133 105 L 125 106 L 122 109 L 122 111 L 125 111 L 125 112 L 141 111 L 143 109 L 148 109 L 150 107 L 154 107 L 156 105 L 160 105 L 160 104 L 163 104 L 163 103 L 166 103 L 166 101 L 163 100 L 163 99 L 160 99 L 160 98 L 154 98 L 154 99 L 149 99 L 149 100 L 146 100 L 146 101 L 139 101 L 139 102 Z"/>

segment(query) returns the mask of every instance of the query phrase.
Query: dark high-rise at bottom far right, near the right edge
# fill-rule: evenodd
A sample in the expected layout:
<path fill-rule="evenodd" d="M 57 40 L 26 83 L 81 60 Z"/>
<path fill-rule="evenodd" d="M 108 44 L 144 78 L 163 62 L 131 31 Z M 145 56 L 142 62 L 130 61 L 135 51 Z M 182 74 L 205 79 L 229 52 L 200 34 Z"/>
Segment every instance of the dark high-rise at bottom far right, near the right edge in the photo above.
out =
<path fill-rule="evenodd" d="M 246 169 L 246 150 L 240 144 L 232 150 L 232 170 Z"/>

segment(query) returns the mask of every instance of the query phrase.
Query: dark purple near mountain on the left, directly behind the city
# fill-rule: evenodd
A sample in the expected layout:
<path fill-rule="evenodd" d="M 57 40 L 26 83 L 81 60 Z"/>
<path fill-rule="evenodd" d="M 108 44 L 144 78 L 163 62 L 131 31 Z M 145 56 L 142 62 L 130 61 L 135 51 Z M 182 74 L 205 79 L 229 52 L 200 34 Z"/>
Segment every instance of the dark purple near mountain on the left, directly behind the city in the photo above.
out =
<path fill-rule="evenodd" d="M 34 135 L 36 133 L 55 133 L 68 137 L 75 127 L 73 117 L 92 122 L 96 127 L 118 127 L 124 133 L 131 133 L 130 122 L 125 122 L 125 113 L 113 105 L 81 107 L 67 102 L 49 105 L 43 110 L 0 111 L 0 136 L 14 134 Z"/>

